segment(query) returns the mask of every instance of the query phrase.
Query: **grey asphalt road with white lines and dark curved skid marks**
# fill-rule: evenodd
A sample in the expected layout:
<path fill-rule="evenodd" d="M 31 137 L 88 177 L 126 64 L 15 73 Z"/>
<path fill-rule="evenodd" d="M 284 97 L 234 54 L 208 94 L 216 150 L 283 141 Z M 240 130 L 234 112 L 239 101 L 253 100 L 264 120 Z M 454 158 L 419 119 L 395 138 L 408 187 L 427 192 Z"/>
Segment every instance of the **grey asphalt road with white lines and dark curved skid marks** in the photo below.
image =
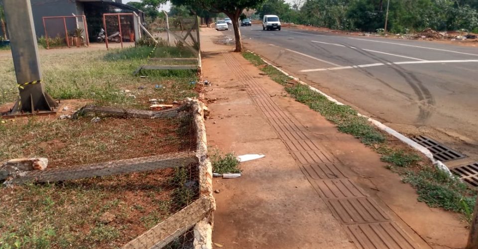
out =
<path fill-rule="evenodd" d="M 477 157 L 478 48 L 429 41 L 241 27 L 247 49 L 406 134 Z M 232 36 L 233 31 L 223 31 Z"/>

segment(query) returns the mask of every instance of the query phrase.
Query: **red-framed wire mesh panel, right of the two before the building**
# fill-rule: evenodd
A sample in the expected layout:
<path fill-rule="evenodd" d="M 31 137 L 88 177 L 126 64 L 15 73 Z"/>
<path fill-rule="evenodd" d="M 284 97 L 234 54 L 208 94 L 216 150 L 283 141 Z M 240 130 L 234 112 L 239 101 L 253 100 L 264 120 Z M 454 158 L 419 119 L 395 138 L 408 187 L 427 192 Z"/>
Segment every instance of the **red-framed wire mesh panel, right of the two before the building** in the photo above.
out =
<path fill-rule="evenodd" d="M 135 41 L 135 26 L 133 13 L 107 13 L 103 14 L 104 33 L 100 33 L 99 42 L 105 42 L 106 47 L 109 43 L 120 43 Z"/>

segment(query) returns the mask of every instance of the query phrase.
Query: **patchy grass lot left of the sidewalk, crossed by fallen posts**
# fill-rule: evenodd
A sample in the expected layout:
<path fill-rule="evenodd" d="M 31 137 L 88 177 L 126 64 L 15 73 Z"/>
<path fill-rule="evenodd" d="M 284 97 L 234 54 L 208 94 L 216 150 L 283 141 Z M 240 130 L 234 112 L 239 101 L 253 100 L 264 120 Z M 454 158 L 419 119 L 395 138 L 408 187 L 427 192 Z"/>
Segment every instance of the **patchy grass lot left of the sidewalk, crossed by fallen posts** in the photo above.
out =
<path fill-rule="evenodd" d="M 0 161 L 47 157 L 49 168 L 195 148 L 190 120 L 58 119 L 86 104 L 149 109 L 150 99 L 179 105 L 197 97 L 195 70 L 142 70 L 153 47 L 40 51 L 46 91 L 58 116 L 0 119 Z M 190 56 L 157 47 L 154 56 Z M 0 107 L 18 90 L 11 54 L 0 54 Z M 93 119 L 93 120 L 92 120 Z M 0 184 L 0 249 L 119 248 L 197 197 L 195 165 L 128 175 L 6 187 Z"/>

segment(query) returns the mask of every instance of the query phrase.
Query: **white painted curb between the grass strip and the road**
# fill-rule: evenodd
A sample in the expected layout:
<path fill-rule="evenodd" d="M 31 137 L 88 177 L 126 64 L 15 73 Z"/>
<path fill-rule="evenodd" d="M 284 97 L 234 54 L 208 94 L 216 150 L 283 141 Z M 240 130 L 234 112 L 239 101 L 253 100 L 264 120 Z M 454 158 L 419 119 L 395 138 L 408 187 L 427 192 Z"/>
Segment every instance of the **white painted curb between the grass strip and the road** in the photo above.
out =
<path fill-rule="evenodd" d="M 250 52 L 254 55 L 257 55 L 260 57 L 260 55 L 258 54 L 255 54 L 254 52 L 250 51 L 250 50 L 247 50 L 247 52 Z M 310 90 L 314 91 L 314 92 L 317 92 L 321 95 L 323 95 L 324 97 L 326 97 L 328 100 L 334 102 L 335 104 L 337 105 L 340 105 L 340 106 L 344 106 L 343 103 L 339 102 L 338 100 L 330 97 L 329 95 L 325 94 L 324 92 L 320 91 L 319 89 L 317 88 L 314 88 L 314 87 L 311 87 L 309 86 L 307 83 L 301 81 L 299 78 L 296 78 L 296 77 L 293 77 L 291 75 L 289 75 L 288 73 L 286 73 L 284 70 L 272 65 L 271 63 L 267 62 L 266 60 L 264 60 L 262 57 L 260 57 L 260 59 L 265 62 L 266 64 L 274 67 L 275 69 L 279 70 L 281 73 L 285 74 L 286 76 L 288 76 L 289 78 L 292 78 L 294 79 L 295 81 L 299 82 L 300 84 L 302 85 L 306 85 L 309 87 Z M 419 143 L 413 141 L 412 139 L 406 137 L 405 135 L 401 134 L 400 132 L 388 127 L 387 125 L 385 124 L 382 124 L 372 118 L 369 118 L 365 115 L 361 115 L 361 114 L 358 114 L 360 117 L 364 117 L 366 119 L 368 119 L 368 121 L 370 123 L 372 123 L 373 125 L 375 125 L 377 128 L 387 132 L 388 134 L 396 137 L 397 139 L 399 139 L 400 141 L 406 143 L 408 146 L 414 148 L 415 150 L 418 150 L 419 152 L 423 153 L 426 157 L 428 157 L 435 165 L 437 165 L 440 169 L 442 169 L 443 171 L 445 171 L 446 173 L 448 173 L 450 176 L 452 176 L 452 172 L 450 171 L 450 169 L 445 165 L 443 164 L 443 162 L 439 161 L 439 160 L 436 160 L 434 157 L 433 157 L 433 154 L 432 152 L 430 152 L 430 150 L 428 150 L 427 148 L 425 148 L 424 146 L 420 145 Z"/>

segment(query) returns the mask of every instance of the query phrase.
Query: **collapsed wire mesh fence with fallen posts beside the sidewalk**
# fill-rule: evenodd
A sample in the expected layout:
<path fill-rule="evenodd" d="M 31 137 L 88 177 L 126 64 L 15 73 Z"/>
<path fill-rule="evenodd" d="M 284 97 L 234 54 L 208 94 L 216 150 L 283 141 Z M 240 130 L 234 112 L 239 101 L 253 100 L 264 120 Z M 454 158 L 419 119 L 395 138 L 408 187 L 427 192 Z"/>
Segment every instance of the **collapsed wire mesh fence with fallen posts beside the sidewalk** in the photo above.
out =
<path fill-rule="evenodd" d="M 75 116 L 78 121 L 129 122 L 126 126 L 131 130 L 145 134 L 143 144 L 160 150 L 139 158 L 13 173 L 7 183 L 16 188 L 6 196 L 0 195 L 0 210 L 8 217 L 0 228 L 2 234 L 9 224 L 28 217 L 33 224 L 47 221 L 48 227 L 58 232 L 48 237 L 52 247 L 176 249 L 210 241 L 211 230 L 207 227 L 215 204 L 201 103 L 190 100 L 174 111 L 168 110 L 168 115 L 162 115 L 166 111 L 105 111 L 92 107 L 79 112 Z M 140 121 L 160 125 L 151 131 Z M 115 124 L 115 131 L 121 130 L 119 123 Z M 120 135 L 134 136 L 132 131 Z M 128 146 L 134 146 L 134 138 L 129 141 Z M 38 200 L 21 205 L 12 201 L 21 201 L 27 194 L 34 194 L 32 198 Z M 44 212 L 45 202 L 55 205 L 47 205 L 48 212 Z M 9 214 L 8 210 L 15 211 Z M 38 212 L 31 214 L 28 210 Z M 5 237 L 0 246 L 16 245 L 15 238 L 19 237 Z M 37 245 L 27 241 L 22 246 Z"/>

